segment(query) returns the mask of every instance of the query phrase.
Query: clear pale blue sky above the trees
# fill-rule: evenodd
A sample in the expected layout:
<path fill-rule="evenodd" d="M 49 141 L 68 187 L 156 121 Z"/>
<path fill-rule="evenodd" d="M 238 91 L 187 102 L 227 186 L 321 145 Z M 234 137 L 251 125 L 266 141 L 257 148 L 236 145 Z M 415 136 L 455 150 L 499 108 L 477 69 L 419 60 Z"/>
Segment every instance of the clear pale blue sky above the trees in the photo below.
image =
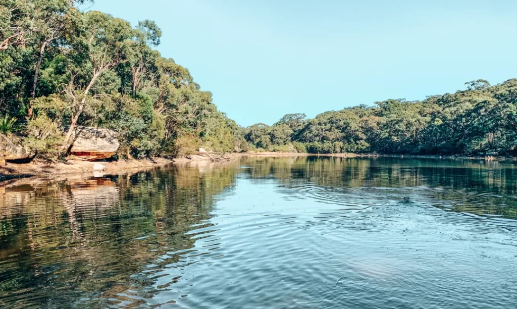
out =
<path fill-rule="evenodd" d="M 158 48 L 239 125 L 517 78 L 514 0 L 96 0 L 163 30 Z"/>

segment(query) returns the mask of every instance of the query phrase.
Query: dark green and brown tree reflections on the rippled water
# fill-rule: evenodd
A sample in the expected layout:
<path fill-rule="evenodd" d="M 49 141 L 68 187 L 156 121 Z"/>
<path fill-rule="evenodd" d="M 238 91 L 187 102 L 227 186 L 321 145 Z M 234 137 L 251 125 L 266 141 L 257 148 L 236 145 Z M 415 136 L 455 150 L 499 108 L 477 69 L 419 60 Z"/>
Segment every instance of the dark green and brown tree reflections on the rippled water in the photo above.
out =
<path fill-rule="evenodd" d="M 241 158 L 102 178 L 25 179 L 0 187 L 0 304 L 145 304 L 156 292 L 153 273 L 184 267 L 182 257 L 198 250 L 202 234 L 218 229 L 210 220 L 215 202 L 232 194 L 239 177 L 273 179 L 293 197 L 308 187 L 332 194 L 379 188 L 394 197 L 409 188 L 449 211 L 517 219 L 512 163 Z"/>

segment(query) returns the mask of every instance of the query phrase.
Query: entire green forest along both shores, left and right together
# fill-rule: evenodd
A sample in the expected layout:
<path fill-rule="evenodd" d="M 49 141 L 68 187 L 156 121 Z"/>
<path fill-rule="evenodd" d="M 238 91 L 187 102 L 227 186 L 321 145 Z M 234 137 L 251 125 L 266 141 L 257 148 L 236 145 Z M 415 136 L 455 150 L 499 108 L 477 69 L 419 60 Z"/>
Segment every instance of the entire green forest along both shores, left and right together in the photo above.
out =
<path fill-rule="evenodd" d="M 189 71 L 155 48 L 161 30 L 88 0 L 0 0 L 0 146 L 64 158 L 76 126 L 117 133 L 119 157 L 219 152 L 517 155 L 517 80 L 240 128 Z M 344 103 L 343 105 L 351 105 Z"/>

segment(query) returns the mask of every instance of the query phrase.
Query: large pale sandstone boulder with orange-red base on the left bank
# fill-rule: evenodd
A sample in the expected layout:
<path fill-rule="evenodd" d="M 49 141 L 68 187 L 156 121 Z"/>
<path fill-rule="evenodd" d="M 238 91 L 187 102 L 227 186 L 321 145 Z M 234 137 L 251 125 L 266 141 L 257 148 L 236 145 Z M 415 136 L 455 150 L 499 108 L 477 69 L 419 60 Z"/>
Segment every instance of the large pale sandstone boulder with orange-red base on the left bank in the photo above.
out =
<path fill-rule="evenodd" d="M 115 131 L 93 127 L 76 127 L 72 141 L 70 155 L 88 161 L 109 159 L 120 146 Z"/>

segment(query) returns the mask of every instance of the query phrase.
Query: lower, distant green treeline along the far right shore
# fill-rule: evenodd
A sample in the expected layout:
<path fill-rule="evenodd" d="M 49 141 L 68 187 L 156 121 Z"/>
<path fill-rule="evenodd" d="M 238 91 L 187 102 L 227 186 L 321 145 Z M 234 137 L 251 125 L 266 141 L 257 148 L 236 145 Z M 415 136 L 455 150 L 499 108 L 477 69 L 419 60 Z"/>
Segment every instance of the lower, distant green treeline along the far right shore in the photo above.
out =
<path fill-rule="evenodd" d="M 455 94 L 285 115 L 244 130 L 250 148 L 312 153 L 517 155 L 517 80 L 466 83 Z"/>

